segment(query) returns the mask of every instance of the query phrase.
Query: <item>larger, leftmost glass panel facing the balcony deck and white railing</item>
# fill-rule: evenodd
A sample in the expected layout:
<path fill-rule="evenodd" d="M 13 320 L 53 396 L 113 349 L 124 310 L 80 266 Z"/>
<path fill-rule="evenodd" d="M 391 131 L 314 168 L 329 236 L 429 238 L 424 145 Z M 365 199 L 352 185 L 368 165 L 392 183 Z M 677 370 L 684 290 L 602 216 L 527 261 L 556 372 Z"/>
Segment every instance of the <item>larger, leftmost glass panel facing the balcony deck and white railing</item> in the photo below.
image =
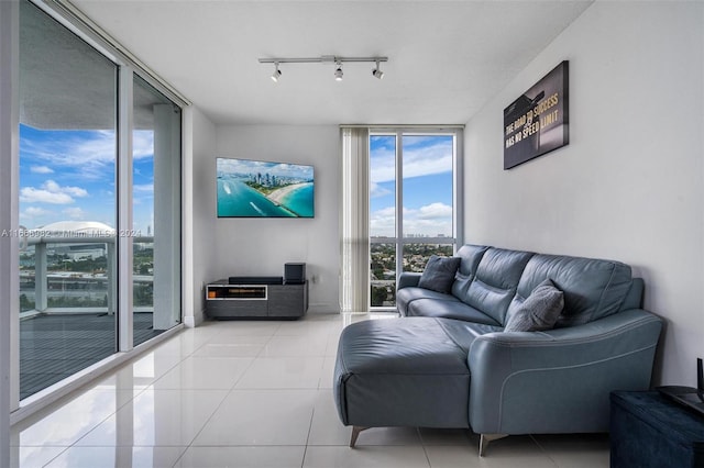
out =
<path fill-rule="evenodd" d="M 117 350 L 118 67 L 20 10 L 20 399 Z"/>

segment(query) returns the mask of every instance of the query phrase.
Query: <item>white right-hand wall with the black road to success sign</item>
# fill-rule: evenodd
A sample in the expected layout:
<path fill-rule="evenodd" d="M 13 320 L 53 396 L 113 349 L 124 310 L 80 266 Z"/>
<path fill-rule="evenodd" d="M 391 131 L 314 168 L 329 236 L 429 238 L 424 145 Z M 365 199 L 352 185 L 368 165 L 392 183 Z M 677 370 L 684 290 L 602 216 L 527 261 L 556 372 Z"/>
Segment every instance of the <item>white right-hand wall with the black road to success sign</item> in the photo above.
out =
<path fill-rule="evenodd" d="M 469 122 L 465 241 L 622 260 L 667 320 L 656 383 L 704 357 L 704 3 L 595 2 Z M 570 145 L 503 170 L 503 109 L 570 60 Z"/>

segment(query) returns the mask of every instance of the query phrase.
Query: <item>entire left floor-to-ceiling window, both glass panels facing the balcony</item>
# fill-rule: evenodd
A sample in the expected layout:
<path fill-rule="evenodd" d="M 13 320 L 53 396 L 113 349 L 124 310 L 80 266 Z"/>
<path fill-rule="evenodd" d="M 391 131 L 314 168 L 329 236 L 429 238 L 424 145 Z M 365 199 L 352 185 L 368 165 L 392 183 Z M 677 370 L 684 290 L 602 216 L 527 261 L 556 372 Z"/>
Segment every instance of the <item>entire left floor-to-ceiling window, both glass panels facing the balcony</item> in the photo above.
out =
<path fill-rule="evenodd" d="M 20 4 L 20 400 L 180 323 L 180 108 L 52 14 Z"/>

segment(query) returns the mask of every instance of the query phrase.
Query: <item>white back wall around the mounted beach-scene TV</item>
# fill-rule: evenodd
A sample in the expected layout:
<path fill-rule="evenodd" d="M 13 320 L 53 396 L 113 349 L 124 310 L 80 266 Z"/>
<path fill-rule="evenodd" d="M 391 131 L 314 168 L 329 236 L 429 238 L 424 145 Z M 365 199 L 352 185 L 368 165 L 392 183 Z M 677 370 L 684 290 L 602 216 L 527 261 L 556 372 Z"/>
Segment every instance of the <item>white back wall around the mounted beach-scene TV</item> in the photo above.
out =
<path fill-rule="evenodd" d="M 314 219 L 216 219 L 213 277 L 283 276 L 287 261 L 305 261 L 309 280 L 309 313 L 338 312 L 340 131 L 338 126 L 219 126 L 217 151 L 209 155 L 204 204 L 216 218 L 216 157 L 312 165 Z"/>

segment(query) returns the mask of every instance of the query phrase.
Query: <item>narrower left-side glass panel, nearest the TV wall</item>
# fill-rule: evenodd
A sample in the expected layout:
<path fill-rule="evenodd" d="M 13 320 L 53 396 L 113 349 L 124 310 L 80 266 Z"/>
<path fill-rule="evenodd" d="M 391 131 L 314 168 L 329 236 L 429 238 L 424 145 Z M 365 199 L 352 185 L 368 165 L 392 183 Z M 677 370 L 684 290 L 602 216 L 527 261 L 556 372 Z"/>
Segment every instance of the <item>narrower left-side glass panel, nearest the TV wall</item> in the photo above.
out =
<path fill-rule="evenodd" d="M 180 322 L 180 108 L 133 82 L 133 343 Z M 158 210 L 155 210 L 158 208 Z"/>

